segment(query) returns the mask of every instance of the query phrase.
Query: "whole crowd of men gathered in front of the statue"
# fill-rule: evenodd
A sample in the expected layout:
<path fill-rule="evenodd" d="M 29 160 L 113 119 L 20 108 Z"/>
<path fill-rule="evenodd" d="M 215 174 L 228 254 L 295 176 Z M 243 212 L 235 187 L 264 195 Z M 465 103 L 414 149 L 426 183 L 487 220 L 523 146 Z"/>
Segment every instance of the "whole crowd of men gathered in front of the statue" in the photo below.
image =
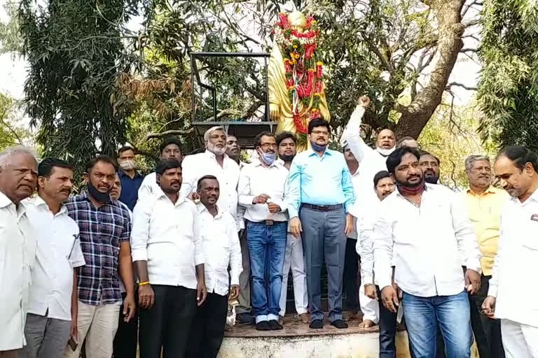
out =
<path fill-rule="evenodd" d="M 314 119 L 308 150 L 263 132 L 247 164 L 212 127 L 196 154 L 164 141 L 145 177 L 130 147 L 99 155 L 76 196 L 69 163 L 1 152 L 0 358 L 216 357 L 230 301 L 239 322 L 283 328 L 290 271 L 296 319 L 322 329 L 323 266 L 329 324 L 360 310 L 380 357 L 396 357 L 403 317 L 412 357 L 470 357 L 474 337 L 481 357 L 537 358 L 538 292 L 522 278 L 538 261 L 537 155 L 472 155 L 455 193 L 413 138 L 364 143 L 368 105 L 343 152 Z"/>

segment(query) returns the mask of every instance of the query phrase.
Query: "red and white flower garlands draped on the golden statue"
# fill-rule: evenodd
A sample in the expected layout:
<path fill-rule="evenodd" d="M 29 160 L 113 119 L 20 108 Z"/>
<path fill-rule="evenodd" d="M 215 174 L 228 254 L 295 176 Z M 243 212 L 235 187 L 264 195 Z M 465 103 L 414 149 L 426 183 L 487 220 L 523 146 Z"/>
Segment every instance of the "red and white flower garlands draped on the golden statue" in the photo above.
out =
<path fill-rule="evenodd" d="M 315 50 L 319 29 L 314 17 L 306 17 L 306 27 L 304 32 L 291 29 L 288 16 L 285 13 L 278 15 L 279 21 L 275 27 L 275 41 L 280 46 L 284 57 L 284 68 L 286 70 L 286 85 L 288 89 L 289 101 L 292 103 L 294 113 L 294 123 L 300 133 L 308 132 L 308 124 L 305 126 L 298 110 L 298 103 L 309 106 L 310 119 L 319 117 L 319 95 L 323 90 L 323 64 L 316 62 Z M 314 75 L 317 78 L 314 88 Z M 312 99 L 312 90 L 314 98 Z"/>

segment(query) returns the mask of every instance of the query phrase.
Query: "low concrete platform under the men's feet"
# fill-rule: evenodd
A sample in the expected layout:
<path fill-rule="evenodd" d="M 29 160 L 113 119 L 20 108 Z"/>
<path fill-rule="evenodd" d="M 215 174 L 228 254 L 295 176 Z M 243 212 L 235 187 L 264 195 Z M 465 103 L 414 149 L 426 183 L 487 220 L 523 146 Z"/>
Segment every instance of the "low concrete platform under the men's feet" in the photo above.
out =
<path fill-rule="evenodd" d="M 359 328 L 357 320 L 348 329 L 336 329 L 324 322 L 323 329 L 310 329 L 294 317 L 284 319 L 281 331 L 256 331 L 237 324 L 226 332 L 220 358 L 377 358 L 378 326 Z M 408 358 L 408 339 L 403 327 L 396 334 L 397 358 Z"/>

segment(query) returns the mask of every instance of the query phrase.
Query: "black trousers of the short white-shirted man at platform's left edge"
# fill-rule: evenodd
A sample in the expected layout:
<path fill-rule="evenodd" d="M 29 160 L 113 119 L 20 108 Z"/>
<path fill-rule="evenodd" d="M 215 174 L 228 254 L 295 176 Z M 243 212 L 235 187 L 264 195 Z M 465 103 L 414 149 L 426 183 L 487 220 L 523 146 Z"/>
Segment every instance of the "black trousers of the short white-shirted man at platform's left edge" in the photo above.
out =
<path fill-rule="evenodd" d="M 207 294 L 205 303 L 196 309 L 188 336 L 187 358 L 216 358 L 224 338 L 228 313 L 228 296 Z"/>

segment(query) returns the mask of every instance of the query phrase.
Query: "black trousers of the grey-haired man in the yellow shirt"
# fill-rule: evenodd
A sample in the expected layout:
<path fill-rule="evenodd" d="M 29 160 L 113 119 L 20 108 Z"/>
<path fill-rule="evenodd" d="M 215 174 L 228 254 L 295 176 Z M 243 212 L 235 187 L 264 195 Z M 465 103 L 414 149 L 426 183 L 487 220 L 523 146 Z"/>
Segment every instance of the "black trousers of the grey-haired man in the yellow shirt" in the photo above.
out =
<path fill-rule="evenodd" d="M 482 303 L 488 296 L 491 276 L 482 275 L 482 286 L 476 296 L 469 295 L 471 303 L 471 326 L 480 357 L 504 358 L 501 340 L 501 321 L 482 315 Z"/>

